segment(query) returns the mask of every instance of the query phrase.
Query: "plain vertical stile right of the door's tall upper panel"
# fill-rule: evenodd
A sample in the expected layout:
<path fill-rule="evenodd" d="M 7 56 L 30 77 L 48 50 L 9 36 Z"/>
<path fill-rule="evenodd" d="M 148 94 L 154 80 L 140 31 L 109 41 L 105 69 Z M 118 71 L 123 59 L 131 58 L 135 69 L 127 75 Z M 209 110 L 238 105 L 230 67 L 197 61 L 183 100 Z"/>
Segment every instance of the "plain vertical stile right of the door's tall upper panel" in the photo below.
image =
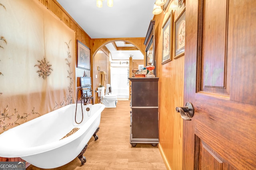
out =
<path fill-rule="evenodd" d="M 234 2 L 233 2 L 234 1 Z M 232 58 L 230 100 L 256 105 L 256 1 L 229 3 L 228 54 Z"/>

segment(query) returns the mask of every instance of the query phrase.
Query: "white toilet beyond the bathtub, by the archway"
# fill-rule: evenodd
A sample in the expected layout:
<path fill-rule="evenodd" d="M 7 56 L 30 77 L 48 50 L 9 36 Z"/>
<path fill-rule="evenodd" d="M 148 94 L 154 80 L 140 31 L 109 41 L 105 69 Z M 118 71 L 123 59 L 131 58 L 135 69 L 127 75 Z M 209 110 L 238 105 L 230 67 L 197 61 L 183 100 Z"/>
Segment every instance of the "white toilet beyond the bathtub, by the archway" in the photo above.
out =
<path fill-rule="evenodd" d="M 116 107 L 117 97 L 112 94 L 110 84 L 106 84 L 106 95 L 104 93 L 105 87 L 98 87 L 98 97 L 101 98 L 102 104 L 104 104 L 107 108 Z"/>

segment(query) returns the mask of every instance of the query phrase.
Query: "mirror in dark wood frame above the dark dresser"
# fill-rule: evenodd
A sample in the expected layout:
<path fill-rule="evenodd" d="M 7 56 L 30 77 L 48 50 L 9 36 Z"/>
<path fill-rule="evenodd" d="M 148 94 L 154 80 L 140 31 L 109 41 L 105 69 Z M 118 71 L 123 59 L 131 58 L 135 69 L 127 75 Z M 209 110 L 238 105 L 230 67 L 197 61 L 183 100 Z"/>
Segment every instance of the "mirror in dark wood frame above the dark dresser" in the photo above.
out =
<path fill-rule="evenodd" d="M 156 76 L 156 61 L 155 61 L 155 37 L 154 37 L 154 25 L 155 20 L 150 21 L 150 25 L 148 27 L 148 32 L 146 34 L 146 38 L 144 41 L 144 45 L 146 45 L 146 59 L 145 59 L 145 66 L 148 63 L 152 63 L 155 66 L 153 73 Z"/>

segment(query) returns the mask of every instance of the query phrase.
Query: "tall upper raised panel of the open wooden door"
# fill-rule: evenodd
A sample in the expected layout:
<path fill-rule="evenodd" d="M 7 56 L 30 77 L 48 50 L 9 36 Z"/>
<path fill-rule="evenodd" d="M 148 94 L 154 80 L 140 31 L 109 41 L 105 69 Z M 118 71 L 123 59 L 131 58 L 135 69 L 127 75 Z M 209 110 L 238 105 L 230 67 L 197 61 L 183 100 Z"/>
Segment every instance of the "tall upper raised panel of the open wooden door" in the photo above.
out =
<path fill-rule="evenodd" d="M 208 0 L 202 5 L 202 90 L 215 92 L 215 88 L 226 88 L 227 2 Z"/>

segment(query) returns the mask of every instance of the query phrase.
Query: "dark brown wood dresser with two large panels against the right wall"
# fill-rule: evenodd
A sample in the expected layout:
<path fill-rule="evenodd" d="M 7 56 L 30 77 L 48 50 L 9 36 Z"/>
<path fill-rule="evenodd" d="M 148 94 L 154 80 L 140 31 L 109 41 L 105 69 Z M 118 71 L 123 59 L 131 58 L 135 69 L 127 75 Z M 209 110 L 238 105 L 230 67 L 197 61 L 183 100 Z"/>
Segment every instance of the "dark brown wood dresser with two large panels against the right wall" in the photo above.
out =
<path fill-rule="evenodd" d="M 129 78 L 131 83 L 130 144 L 159 143 L 158 138 L 158 77 Z"/>

